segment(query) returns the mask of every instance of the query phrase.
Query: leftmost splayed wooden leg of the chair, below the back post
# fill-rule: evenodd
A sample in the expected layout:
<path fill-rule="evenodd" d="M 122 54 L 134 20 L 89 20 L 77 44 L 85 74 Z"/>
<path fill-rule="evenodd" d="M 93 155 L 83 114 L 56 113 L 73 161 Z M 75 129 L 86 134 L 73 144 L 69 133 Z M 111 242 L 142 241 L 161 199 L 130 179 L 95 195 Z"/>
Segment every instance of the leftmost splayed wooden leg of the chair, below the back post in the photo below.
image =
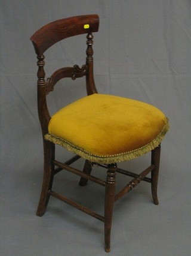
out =
<path fill-rule="evenodd" d="M 44 140 L 44 176 L 42 182 L 41 197 L 38 204 L 38 209 L 36 211 L 37 216 L 42 216 L 47 209 L 48 200 L 50 195 L 48 191 L 53 185 L 53 171 L 54 171 L 54 155 L 55 155 L 55 145 L 50 141 Z"/>

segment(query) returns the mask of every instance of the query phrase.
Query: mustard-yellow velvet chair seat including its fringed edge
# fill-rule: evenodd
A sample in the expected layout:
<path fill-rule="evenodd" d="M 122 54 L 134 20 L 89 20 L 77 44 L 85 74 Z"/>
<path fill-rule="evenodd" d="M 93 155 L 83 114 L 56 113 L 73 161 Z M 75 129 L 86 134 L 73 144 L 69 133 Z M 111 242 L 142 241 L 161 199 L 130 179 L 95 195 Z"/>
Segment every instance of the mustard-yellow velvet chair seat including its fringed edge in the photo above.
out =
<path fill-rule="evenodd" d="M 93 94 L 54 114 L 45 138 L 89 161 L 109 164 L 149 152 L 167 131 L 168 119 L 156 107 Z"/>

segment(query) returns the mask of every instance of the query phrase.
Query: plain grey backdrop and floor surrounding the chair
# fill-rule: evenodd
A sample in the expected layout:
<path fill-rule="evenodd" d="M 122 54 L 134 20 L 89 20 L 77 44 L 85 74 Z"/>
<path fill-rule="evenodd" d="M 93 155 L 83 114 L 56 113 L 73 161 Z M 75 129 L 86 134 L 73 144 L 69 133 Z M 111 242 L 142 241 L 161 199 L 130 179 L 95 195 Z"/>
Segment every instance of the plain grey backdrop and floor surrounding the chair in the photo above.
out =
<path fill-rule="evenodd" d="M 94 34 L 98 91 L 154 104 L 171 124 L 162 143 L 160 204 L 152 203 L 147 183 L 116 204 L 110 255 L 189 256 L 190 0 L 1 0 L 1 255 L 106 255 L 101 222 L 57 200 L 50 200 L 42 218 L 35 216 L 43 155 L 29 38 L 53 20 L 93 13 L 100 16 Z M 58 43 L 45 55 L 47 62 L 52 59 L 47 74 L 84 64 L 85 49 L 85 35 Z M 50 97 L 53 112 L 84 96 L 83 83 L 66 80 L 57 86 Z M 58 149 L 62 160 L 69 155 Z M 148 158 L 121 165 L 139 171 Z M 105 176 L 100 168 L 97 173 Z M 98 199 L 104 191 L 97 185 L 79 188 L 72 174 L 58 174 L 56 183 L 75 200 L 85 195 L 88 207 L 103 209 Z"/>

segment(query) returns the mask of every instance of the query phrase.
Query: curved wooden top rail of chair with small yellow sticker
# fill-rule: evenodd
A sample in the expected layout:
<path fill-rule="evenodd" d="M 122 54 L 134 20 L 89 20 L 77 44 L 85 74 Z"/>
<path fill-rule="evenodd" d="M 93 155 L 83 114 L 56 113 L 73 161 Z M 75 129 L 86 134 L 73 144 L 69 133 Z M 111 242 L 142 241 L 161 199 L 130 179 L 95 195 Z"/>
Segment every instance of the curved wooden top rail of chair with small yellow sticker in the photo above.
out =
<path fill-rule="evenodd" d="M 40 28 L 32 35 L 32 41 L 37 55 L 42 55 L 49 47 L 58 41 L 74 35 L 97 32 L 99 17 L 97 14 L 69 17 L 56 20 Z"/>

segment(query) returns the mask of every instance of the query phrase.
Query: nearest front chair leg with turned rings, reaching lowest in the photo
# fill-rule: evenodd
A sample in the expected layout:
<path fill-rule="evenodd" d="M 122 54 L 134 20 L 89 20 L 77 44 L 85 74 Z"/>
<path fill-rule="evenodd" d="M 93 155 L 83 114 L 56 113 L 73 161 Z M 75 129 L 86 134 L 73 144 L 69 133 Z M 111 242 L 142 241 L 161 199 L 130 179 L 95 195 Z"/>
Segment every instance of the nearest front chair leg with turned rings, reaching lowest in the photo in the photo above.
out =
<path fill-rule="evenodd" d="M 110 232 L 112 227 L 113 204 L 115 202 L 116 164 L 107 165 L 106 194 L 104 204 L 105 251 L 110 252 Z"/>

